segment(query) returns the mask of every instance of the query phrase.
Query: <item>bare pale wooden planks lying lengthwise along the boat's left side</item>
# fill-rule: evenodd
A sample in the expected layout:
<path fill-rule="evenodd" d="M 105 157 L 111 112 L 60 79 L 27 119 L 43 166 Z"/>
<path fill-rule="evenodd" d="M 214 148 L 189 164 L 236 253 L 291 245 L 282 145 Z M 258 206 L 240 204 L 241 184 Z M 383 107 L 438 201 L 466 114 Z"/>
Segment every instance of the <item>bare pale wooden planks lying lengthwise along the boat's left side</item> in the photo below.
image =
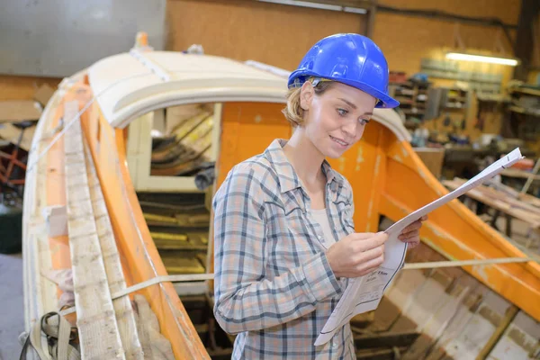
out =
<path fill-rule="evenodd" d="M 76 112 L 77 102 L 66 103 L 68 118 Z M 112 293 L 127 285 L 101 184 L 78 121 L 68 128 L 64 145 L 67 229 L 82 358 L 174 359 L 144 296 L 135 296 L 136 309 L 128 296 L 112 300 Z"/>

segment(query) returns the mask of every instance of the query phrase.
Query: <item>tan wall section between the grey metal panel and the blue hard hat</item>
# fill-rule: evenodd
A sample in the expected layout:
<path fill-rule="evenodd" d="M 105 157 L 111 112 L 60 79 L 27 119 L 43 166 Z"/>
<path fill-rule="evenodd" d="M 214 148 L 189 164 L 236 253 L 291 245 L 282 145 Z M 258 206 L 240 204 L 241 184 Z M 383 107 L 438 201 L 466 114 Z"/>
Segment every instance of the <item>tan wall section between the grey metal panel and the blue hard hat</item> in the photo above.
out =
<path fill-rule="evenodd" d="M 167 44 L 181 50 L 197 43 L 208 54 L 293 69 L 317 40 L 336 32 L 365 33 L 365 18 L 246 0 L 170 0 Z"/>

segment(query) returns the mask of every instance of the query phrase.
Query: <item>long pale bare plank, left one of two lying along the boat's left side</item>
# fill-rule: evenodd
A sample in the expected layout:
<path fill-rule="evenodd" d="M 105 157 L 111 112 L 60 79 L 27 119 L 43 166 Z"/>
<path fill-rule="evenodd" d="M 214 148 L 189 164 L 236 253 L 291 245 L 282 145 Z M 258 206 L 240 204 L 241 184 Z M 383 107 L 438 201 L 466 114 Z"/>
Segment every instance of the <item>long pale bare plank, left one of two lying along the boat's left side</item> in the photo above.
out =
<path fill-rule="evenodd" d="M 67 118 L 74 119 L 77 112 L 77 101 L 65 103 Z M 67 229 L 81 356 L 125 359 L 94 220 L 80 121 L 68 128 L 64 145 Z"/>

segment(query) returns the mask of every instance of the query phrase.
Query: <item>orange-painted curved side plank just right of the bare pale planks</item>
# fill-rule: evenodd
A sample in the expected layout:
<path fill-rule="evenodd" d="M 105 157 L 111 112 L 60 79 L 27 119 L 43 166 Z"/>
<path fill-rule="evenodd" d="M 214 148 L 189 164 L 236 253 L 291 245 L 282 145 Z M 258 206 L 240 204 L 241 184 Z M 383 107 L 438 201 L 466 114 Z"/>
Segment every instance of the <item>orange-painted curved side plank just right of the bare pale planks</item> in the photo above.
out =
<path fill-rule="evenodd" d="M 94 105 L 94 111 L 99 112 L 97 104 Z M 125 131 L 112 129 L 103 117 L 100 117 L 99 121 L 101 126 L 97 132 L 95 121 L 81 122 L 100 182 L 106 184 L 102 188 L 103 196 L 118 247 L 121 249 L 122 263 L 126 268 L 136 270 L 126 274 L 130 276 L 128 284 L 166 275 L 165 266 L 149 236 L 138 196 L 130 182 L 126 166 Z M 96 133 L 100 134 L 99 138 L 95 136 Z M 173 284 L 150 286 L 140 293 L 144 294 L 151 309 L 155 311 L 164 336 L 171 339 L 176 358 L 210 359 L 201 338 L 193 328 L 193 323 L 185 314 Z"/>

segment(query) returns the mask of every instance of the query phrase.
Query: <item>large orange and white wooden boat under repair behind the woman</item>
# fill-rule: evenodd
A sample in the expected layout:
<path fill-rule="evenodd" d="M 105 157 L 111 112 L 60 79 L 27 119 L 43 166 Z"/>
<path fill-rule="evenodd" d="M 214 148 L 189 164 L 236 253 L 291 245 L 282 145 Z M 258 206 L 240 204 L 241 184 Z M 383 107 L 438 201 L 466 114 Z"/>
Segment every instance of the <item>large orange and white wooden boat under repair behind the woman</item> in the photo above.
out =
<path fill-rule="evenodd" d="M 186 193 L 196 192 L 193 184 L 189 184 L 193 182 L 192 178 L 150 174 L 150 115 L 154 110 L 180 104 L 215 104 L 213 141 L 209 151 L 209 157 L 213 154 L 216 160 L 213 191 L 232 166 L 262 152 L 273 139 L 286 139 L 291 135 L 292 129 L 281 113 L 285 91 L 282 77 L 256 74 L 242 67 L 246 74 L 240 80 L 229 75 L 230 78 L 219 77 L 220 73 L 216 72 L 216 79 L 206 83 L 194 81 L 193 78 L 184 82 L 173 78 L 163 84 L 160 82 L 162 80 L 154 78 L 158 71 L 152 71 L 137 75 L 153 77 L 148 79 L 148 84 L 136 83 L 139 87 L 131 90 L 134 85 L 130 85 L 130 81 L 139 79 L 130 75 L 128 70 L 138 74 L 141 65 L 131 59 L 129 66 L 123 68 L 126 57 L 129 58 L 129 55 L 104 59 L 90 69 L 92 76 L 83 72 L 63 82 L 43 112 L 36 130 L 24 198 L 27 329 L 47 311 L 58 310 L 58 300 L 63 292 L 49 280 L 47 273 L 71 267 L 68 236 L 50 236 L 47 221 L 42 216 L 46 208 L 67 204 L 63 177 L 64 143 L 60 135 L 62 128 L 58 128 L 61 118 L 63 126 L 69 126 L 71 121 L 63 116 L 62 109 L 66 102 L 78 102 L 82 112 L 80 126 L 101 184 L 127 286 L 167 274 L 136 191 L 151 190 L 149 184 L 159 180 L 166 184 L 166 191 L 169 192 L 177 189 L 175 186 L 178 184 L 186 184 Z M 160 61 L 163 64 L 176 64 L 176 60 L 182 60 L 182 57 L 182 54 L 157 53 L 151 62 L 152 66 L 159 67 Z M 213 64 L 212 61 L 217 61 L 216 64 L 223 67 L 240 66 L 220 63 L 221 60 L 215 58 L 203 60 L 207 66 Z M 166 68 L 166 65 L 162 67 Z M 127 74 L 124 75 L 125 79 L 114 77 L 116 72 L 124 70 Z M 174 74 L 174 71 L 170 70 L 168 74 Z M 238 71 L 234 74 L 238 74 Z M 126 84 L 122 84 L 121 80 Z M 238 88 L 238 84 L 245 87 Z M 100 97 L 101 94 L 114 86 L 119 87 L 116 93 L 100 100 L 104 99 Z M 122 91 L 127 92 L 123 97 L 120 95 Z M 386 110 L 376 112 L 364 139 L 348 150 L 344 157 L 331 161 L 332 166 L 346 175 L 354 188 L 357 231 L 379 229 L 384 221 L 399 220 L 408 212 L 446 193 L 443 185 L 429 173 L 410 148 L 406 130 L 399 120 L 392 120 L 392 113 Z M 133 121 L 135 119 L 139 123 Z M 131 131 L 134 129 L 138 130 Z M 142 150 L 148 147 L 148 156 L 140 157 L 147 162 L 146 167 L 139 167 L 135 173 L 130 173 L 132 168 L 128 164 L 140 166 L 141 163 L 130 158 L 128 142 L 132 140 L 131 136 L 139 136 L 137 144 L 142 144 Z M 154 159 L 166 157 L 166 154 L 158 155 Z M 139 181 L 139 177 L 133 178 L 132 174 L 142 174 L 140 169 L 147 171 L 145 182 Z M 158 190 L 166 192 L 163 188 Z M 212 193 L 209 194 L 211 198 Z M 507 238 L 484 224 L 457 201 L 431 214 L 421 237 L 424 246 L 410 252 L 409 261 L 525 257 Z M 207 272 L 213 270 L 211 235 L 209 239 Z M 207 285 L 211 298 L 212 284 L 209 282 Z M 152 285 L 139 293 L 144 295 L 156 314 L 160 331 L 170 341 L 176 358 L 210 357 L 173 284 Z M 353 321 L 367 324 L 365 328 L 374 332 L 417 333 L 416 337 L 405 337 L 414 341 L 408 350 L 409 358 L 495 356 L 507 351 L 505 349 L 509 344 L 512 354 L 517 356 L 511 358 L 527 358 L 523 356 L 536 354 L 538 347 L 538 303 L 540 267 L 536 263 L 464 266 L 463 269 L 429 272 L 404 270 L 386 293 L 379 309 L 374 311 L 374 317 L 373 314 L 365 315 Z M 474 338 L 474 347 L 470 346 L 471 337 L 478 334 L 482 336 Z M 395 340 L 395 336 L 392 339 Z M 365 346 L 365 338 L 357 340 L 360 347 Z M 364 355 L 360 349 L 361 356 Z"/>

